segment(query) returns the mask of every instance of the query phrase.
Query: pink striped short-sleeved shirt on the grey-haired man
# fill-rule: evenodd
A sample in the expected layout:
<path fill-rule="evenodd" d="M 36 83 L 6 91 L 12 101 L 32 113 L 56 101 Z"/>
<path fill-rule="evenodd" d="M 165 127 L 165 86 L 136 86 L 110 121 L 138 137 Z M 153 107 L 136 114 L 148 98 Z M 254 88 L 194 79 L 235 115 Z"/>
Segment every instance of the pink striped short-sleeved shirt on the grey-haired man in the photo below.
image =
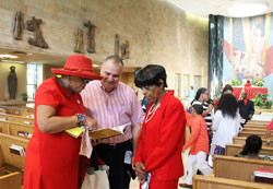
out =
<path fill-rule="evenodd" d="M 140 125 L 144 119 L 134 91 L 119 82 L 117 88 L 107 93 L 100 81 L 92 81 L 81 92 L 86 115 L 96 119 L 100 128 L 114 128 L 128 122 L 132 127 Z M 131 128 L 124 134 L 105 139 L 103 143 L 120 143 L 132 139 Z"/>

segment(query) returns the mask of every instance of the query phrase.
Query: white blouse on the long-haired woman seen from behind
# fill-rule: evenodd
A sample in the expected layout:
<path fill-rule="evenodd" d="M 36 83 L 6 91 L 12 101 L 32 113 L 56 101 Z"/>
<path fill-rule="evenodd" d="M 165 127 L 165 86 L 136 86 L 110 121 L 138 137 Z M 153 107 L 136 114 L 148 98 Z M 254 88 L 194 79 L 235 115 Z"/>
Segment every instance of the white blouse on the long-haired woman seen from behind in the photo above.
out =
<path fill-rule="evenodd" d="M 212 130 L 214 131 L 212 146 L 225 147 L 226 143 L 234 143 L 233 138 L 238 135 L 240 129 L 240 115 L 238 113 L 233 118 L 227 115 L 224 117 L 222 110 L 217 110 L 212 123 Z"/>

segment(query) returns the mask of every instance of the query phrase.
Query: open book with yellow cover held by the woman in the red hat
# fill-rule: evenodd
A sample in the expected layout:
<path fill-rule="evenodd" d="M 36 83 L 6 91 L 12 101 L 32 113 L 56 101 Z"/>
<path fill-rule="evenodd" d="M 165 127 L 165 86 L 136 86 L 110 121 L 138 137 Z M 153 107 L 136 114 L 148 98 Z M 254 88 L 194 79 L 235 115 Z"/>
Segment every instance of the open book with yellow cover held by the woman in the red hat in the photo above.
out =
<path fill-rule="evenodd" d="M 115 127 L 115 128 L 105 128 L 105 129 L 98 129 L 95 131 L 90 131 L 90 137 L 92 140 L 97 139 L 106 139 L 111 138 L 115 135 L 123 134 L 127 130 L 127 128 L 131 126 L 131 122 Z M 79 138 L 83 133 L 83 127 L 74 127 L 71 129 L 66 130 L 67 133 L 74 138 Z"/>

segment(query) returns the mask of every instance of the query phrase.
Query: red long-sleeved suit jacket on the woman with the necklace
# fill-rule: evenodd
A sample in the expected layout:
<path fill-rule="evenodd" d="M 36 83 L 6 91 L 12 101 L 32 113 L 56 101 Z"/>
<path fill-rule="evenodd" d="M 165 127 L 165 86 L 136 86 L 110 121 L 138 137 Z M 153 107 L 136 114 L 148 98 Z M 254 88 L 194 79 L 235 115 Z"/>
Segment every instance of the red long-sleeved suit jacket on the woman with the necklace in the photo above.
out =
<path fill-rule="evenodd" d="M 167 93 L 162 96 L 161 106 L 149 120 L 150 108 L 151 104 L 139 137 L 134 164 L 144 163 L 145 172 L 150 172 L 153 179 L 178 179 L 183 176 L 181 157 L 186 128 L 183 105 L 173 94 Z"/>

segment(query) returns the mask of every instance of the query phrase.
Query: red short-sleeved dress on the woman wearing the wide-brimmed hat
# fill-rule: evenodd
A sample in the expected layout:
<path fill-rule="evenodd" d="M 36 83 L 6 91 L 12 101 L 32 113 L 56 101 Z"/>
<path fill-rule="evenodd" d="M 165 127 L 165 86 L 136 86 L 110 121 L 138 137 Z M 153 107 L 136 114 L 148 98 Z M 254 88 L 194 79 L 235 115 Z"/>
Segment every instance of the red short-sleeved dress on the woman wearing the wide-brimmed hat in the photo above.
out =
<path fill-rule="evenodd" d="M 24 189 L 76 189 L 81 139 L 66 132 L 43 133 L 36 122 L 37 105 L 54 107 L 57 116 L 84 114 L 79 93 L 70 94 L 52 78 L 35 95 L 35 127 L 26 146 Z"/>

